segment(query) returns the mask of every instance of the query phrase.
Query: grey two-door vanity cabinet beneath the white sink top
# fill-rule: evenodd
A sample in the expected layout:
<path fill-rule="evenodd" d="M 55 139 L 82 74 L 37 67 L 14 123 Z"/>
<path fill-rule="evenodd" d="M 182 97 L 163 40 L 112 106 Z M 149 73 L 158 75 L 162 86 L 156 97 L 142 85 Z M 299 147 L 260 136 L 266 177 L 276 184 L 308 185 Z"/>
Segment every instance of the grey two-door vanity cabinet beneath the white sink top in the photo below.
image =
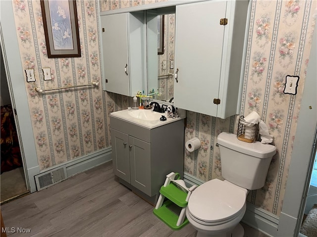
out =
<path fill-rule="evenodd" d="M 149 129 L 110 116 L 110 124 L 116 180 L 155 203 L 167 174 L 183 177 L 184 119 Z"/>

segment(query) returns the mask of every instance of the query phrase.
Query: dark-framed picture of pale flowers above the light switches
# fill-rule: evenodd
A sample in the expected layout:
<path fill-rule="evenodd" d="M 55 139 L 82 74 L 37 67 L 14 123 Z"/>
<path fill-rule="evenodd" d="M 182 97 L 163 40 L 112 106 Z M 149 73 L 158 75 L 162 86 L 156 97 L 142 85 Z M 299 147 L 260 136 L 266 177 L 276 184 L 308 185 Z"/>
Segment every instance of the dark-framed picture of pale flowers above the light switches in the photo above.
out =
<path fill-rule="evenodd" d="M 76 0 L 41 0 L 48 58 L 81 57 Z"/>

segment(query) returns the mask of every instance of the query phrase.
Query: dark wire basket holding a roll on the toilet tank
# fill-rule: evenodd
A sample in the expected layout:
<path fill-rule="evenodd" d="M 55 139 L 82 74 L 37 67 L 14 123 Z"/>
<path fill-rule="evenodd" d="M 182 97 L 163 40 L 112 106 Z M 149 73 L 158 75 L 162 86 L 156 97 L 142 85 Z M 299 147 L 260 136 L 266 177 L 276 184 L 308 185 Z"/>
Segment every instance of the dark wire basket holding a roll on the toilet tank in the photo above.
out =
<path fill-rule="evenodd" d="M 243 142 L 253 143 L 259 139 L 259 123 L 247 126 L 243 121 L 244 116 L 240 116 L 238 124 L 237 138 Z"/>

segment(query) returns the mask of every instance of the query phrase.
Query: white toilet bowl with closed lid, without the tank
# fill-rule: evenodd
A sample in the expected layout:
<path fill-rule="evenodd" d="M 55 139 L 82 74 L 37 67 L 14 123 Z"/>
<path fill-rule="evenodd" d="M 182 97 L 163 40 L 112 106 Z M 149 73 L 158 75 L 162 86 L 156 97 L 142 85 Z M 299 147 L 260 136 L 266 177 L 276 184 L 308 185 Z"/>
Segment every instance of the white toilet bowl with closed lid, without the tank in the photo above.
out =
<path fill-rule="evenodd" d="M 227 181 L 213 179 L 192 193 L 186 209 L 186 216 L 198 231 L 197 237 L 217 236 L 243 237 L 238 223 L 246 211 L 248 190 Z M 234 198 L 232 198 L 234 197 Z"/>

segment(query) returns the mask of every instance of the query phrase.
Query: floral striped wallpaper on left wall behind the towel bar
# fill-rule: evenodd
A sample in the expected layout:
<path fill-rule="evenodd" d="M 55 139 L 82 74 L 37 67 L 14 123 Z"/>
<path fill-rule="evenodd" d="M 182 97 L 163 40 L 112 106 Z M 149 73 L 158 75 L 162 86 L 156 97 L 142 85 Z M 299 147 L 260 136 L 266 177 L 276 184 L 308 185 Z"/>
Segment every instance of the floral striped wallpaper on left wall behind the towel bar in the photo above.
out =
<path fill-rule="evenodd" d="M 105 93 L 101 85 L 35 91 L 37 86 L 47 89 L 101 83 L 97 4 L 76 1 L 82 56 L 49 59 L 40 1 L 12 1 L 23 69 L 34 69 L 35 73 L 35 82 L 24 81 L 41 170 L 110 147 L 108 117 L 118 108 L 112 106 L 116 95 Z M 44 80 L 42 68 L 51 69 L 52 80 Z"/>

